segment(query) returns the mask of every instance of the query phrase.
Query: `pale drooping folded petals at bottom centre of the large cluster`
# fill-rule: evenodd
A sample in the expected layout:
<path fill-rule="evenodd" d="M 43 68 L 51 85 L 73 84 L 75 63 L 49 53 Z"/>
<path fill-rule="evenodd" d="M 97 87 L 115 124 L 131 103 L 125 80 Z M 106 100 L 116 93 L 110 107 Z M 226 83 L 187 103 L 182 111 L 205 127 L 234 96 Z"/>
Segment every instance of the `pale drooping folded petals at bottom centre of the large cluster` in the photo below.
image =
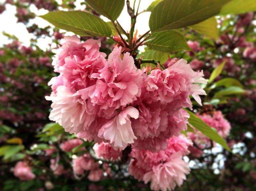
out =
<path fill-rule="evenodd" d="M 134 143 L 134 139 L 137 139 L 134 136 L 130 118 L 138 117 L 139 111 L 135 107 L 128 106 L 103 125 L 98 136 L 108 140 L 115 150 L 124 150 L 128 144 Z"/>

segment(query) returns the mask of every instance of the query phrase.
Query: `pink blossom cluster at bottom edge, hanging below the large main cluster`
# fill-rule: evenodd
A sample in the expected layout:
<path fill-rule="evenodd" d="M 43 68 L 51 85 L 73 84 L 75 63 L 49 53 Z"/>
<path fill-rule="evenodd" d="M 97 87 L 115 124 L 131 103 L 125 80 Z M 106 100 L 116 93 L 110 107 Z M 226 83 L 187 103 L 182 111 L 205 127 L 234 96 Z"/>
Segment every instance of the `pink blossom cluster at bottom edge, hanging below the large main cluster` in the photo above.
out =
<path fill-rule="evenodd" d="M 167 148 L 159 152 L 132 149 L 129 173 L 139 181 L 151 182 L 152 190 L 172 190 L 181 186 L 189 173 L 188 164 L 182 157 L 189 154 L 192 142 L 184 135 L 173 136 Z"/>

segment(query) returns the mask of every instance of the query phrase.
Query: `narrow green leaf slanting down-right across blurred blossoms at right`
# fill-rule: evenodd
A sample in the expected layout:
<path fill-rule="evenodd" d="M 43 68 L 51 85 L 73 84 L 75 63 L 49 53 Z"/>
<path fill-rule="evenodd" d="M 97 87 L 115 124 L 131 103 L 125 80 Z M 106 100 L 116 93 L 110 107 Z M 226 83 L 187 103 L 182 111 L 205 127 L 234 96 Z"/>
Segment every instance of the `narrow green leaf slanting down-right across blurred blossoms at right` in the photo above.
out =
<path fill-rule="evenodd" d="M 197 117 L 194 113 L 186 110 L 190 115 L 188 122 L 197 130 L 202 132 L 205 136 L 209 137 L 212 141 L 219 143 L 223 148 L 231 152 L 227 142 L 212 128 L 210 128 L 204 121 Z"/>

